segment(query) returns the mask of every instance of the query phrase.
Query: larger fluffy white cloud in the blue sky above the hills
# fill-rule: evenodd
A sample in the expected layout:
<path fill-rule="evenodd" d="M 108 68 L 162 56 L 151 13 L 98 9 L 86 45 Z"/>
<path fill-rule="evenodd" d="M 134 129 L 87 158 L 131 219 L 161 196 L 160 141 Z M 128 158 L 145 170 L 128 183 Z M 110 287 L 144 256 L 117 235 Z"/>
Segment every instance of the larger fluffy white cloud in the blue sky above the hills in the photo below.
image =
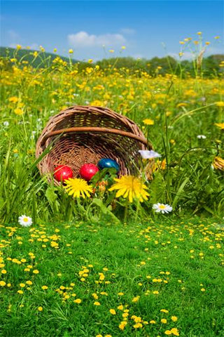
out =
<path fill-rule="evenodd" d="M 122 34 L 90 35 L 87 32 L 78 32 L 68 35 L 69 45 L 72 47 L 116 46 L 125 44 Z"/>

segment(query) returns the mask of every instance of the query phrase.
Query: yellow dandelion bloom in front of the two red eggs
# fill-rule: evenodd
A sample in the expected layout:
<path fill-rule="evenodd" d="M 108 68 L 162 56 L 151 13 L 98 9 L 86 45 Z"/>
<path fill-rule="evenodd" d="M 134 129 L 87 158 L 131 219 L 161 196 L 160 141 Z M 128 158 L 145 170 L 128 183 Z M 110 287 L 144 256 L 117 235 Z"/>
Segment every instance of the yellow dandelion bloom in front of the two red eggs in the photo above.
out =
<path fill-rule="evenodd" d="M 83 198 L 90 197 L 90 193 L 92 192 L 92 186 L 87 185 L 87 182 L 84 179 L 80 178 L 69 178 L 67 180 L 64 180 L 66 183 L 65 190 L 69 193 L 69 195 L 72 195 L 74 198 L 80 198 L 82 196 Z M 90 192 L 90 193 L 89 193 Z"/>

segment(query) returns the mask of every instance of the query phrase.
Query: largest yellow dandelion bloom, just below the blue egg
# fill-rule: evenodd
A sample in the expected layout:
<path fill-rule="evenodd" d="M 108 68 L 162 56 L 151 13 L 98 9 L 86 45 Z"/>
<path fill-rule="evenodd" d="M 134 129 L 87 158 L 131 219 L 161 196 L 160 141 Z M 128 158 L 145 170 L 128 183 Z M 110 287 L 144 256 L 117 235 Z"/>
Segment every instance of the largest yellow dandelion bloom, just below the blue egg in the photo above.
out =
<path fill-rule="evenodd" d="M 134 176 L 122 176 L 121 178 L 114 178 L 117 182 L 109 189 L 109 191 L 118 190 L 116 197 L 123 196 L 129 198 L 132 202 L 134 198 L 139 199 L 140 202 L 148 200 L 148 192 L 146 185 L 141 180 Z"/>

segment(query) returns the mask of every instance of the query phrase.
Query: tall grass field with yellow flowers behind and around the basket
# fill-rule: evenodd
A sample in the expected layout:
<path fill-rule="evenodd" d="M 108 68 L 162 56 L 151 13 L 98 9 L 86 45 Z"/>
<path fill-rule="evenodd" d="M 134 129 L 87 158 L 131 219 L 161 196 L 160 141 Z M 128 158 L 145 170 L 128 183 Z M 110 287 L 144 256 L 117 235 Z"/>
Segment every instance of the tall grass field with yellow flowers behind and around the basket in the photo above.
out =
<path fill-rule="evenodd" d="M 71 105 L 107 106 L 129 117 L 161 155 L 153 179 L 146 181 L 151 197 L 139 214 L 152 213 L 160 202 L 175 213 L 223 217 L 222 74 L 162 77 L 161 67 L 155 76 L 129 74 L 116 69 L 116 60 L 107 70 L 92 60 L 79 70 L 59 57 L 49 64 L 43 52 L 32 54 L 42 62 L 34 68 L 16 55 L 17 50 L 7 69 L 1 61 L 0 212 L 6 223 L 23 213 L 48 222 L 77 216 L 76 203 L 71 207 L 63 191 L 48 186 L 35 162 L 36 140 L 48 119 Z"/>

